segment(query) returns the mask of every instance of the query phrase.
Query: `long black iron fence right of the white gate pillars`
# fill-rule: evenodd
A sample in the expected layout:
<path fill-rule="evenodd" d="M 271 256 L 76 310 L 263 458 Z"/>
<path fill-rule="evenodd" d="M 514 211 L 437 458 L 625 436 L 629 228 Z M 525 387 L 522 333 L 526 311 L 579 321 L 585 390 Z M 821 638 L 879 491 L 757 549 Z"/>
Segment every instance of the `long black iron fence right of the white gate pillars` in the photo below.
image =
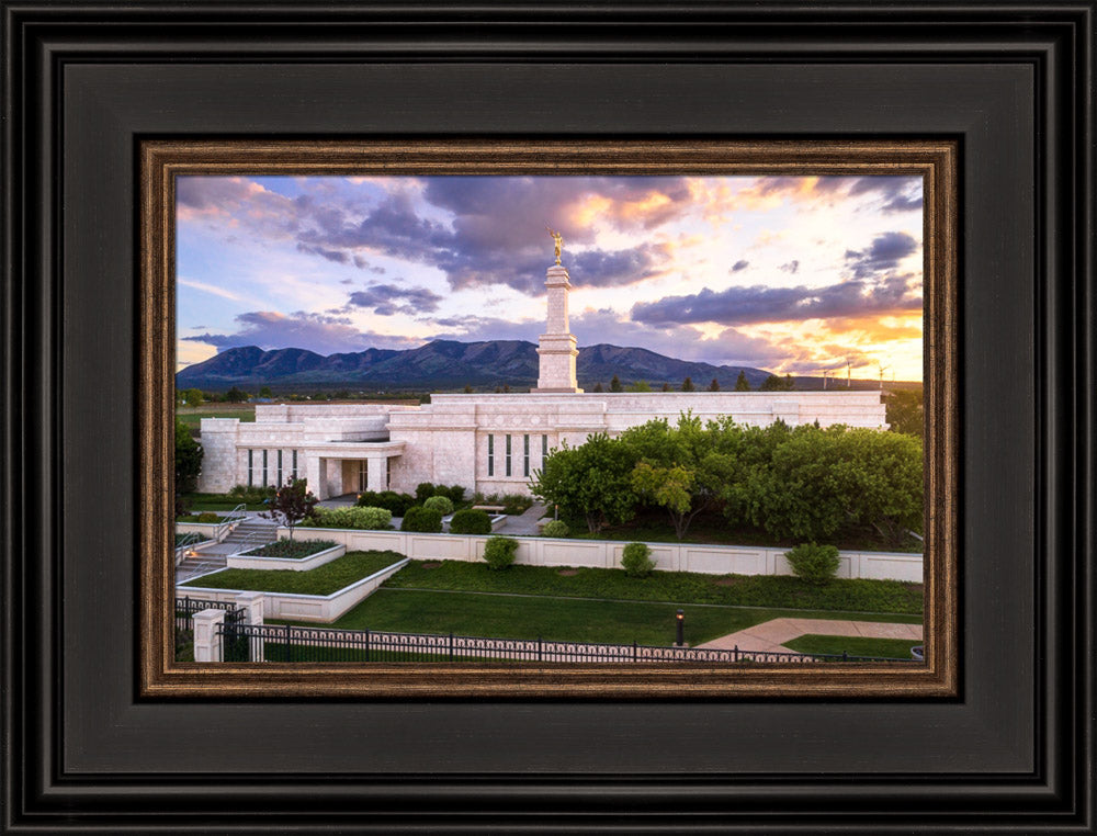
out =
<path fill-rule="evenodd" d="M 516 663 L 783 663 L 878 662 L 918 664 L 914 659 L 849 654 L 759 653 L 708 647 L 553 642 L 542 639 L 393 633 L 287 624 L 226 624 L 218 633 L 226 662 L 516 662 Z"/>

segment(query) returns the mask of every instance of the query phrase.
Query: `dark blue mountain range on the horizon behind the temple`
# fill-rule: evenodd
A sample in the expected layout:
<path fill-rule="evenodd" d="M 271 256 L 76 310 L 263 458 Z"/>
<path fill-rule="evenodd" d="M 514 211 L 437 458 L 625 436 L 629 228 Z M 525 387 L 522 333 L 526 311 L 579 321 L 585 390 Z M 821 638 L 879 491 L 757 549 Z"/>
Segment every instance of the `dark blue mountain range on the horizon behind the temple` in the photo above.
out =
<path fill-rule="evenodd" d="M 403 351 L 371 348 L 328 357 L 299 348 L 263 351 L 257 346 L 242 346 L 182 369 L 176 374 L 176 386 L 205 391 L 269 386 L 280 392 L 336 387 L 422 392 L 508 385 L 521 391 L 536 385 L 538 365 L 536 346 L 524 340 L 433 340 Z M 614 374 L 625 385 L 647 381 L 654 388 L 669 383 L 676 389 L 686 377 L 691 377 L 699 389 L 706 388 L 713 379 L 721 388 L 734 388 L 740 371 L 750 388 L 757 389 L 769 376 L 761 369 L 675 360 L 647 349 L 604 343 L 579 349 L 576 370 L 579 385 L 588 392 L 598 383 L 609 388 Z"/>

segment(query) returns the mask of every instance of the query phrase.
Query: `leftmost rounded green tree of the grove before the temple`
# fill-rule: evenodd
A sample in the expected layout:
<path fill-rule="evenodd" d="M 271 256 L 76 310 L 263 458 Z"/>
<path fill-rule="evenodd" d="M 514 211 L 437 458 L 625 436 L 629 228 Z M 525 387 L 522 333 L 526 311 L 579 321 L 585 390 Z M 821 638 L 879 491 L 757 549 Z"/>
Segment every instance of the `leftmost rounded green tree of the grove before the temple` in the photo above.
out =
<path fill-rule="evenodd" d="M 565 518 L 583 519 L 591 533 L 598 533 L 635 516 L 635 464 L 629 447 L 606 433 L 589 436 L 577 448 L 565 441 L 533 472 L 530 489 L 546 505 L 559 506 Z"/>

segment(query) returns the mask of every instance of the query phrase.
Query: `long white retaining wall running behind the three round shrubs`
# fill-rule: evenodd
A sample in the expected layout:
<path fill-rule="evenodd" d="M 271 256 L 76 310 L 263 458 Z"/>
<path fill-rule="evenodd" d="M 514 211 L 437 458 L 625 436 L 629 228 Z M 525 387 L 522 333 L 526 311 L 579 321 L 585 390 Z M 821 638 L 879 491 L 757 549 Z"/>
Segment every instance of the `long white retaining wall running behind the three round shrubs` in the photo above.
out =
<path fill-rule="evenodd" d="M 309 536 L 342 543 L 349 551 L 393 551 L 417 561 L 482 561 L 486 535 L 417 534 L 409 531 L 302 529 Z M 279 536 L 289 529 L 279 529 Z M 519 536 L 514 563 L 531 566 L 620 568 L 623 540 Z M 785 549 L 702 543 L 648 543 L 655 567 L 705 575 L 792 575 Z M 839 552 L 838 577 L 921 583 L 923 555 L 904 552 Z"/>

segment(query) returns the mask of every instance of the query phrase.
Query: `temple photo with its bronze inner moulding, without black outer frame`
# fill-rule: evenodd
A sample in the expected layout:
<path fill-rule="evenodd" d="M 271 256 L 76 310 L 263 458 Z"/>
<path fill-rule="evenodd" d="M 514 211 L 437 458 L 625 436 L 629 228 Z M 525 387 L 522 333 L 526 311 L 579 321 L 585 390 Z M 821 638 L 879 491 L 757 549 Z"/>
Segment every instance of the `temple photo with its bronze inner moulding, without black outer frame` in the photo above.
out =
<path fill-rule="evenodd" d="M 955 151 L 143 144 L 146 693 L 954 694 Z"/>

